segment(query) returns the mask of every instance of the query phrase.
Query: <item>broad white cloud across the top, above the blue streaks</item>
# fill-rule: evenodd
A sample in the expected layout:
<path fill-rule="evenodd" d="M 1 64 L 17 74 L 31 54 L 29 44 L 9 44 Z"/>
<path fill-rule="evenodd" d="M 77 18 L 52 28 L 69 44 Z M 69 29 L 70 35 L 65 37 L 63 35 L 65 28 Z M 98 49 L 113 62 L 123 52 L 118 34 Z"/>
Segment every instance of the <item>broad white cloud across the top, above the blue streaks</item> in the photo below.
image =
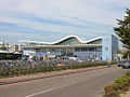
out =
<path fill-rule="evenodd" d="M 9 1 L 9 0 L 8 0 Z M 70 17 L 78 17 L 89 22 L 113 25 L 114 19 L 121 15 L 120 12 L 109 12 L 107 3 L 117 3 L 125 6 L 127 0 L 12 0 L 4 1 L 2 9 L 11 11 L 31 13 L 42 18 L 53 18 L 74 22 Z M 123 3 L 125 4 L 123 4 Z M 14 5 L 15 4 L 15 5 Z M 130 5 L 127 3 L 127 5 Z M 104 8 L 105 6 L 105 8 Z M 116 5 L 115 5 L 116 6 Z"/>

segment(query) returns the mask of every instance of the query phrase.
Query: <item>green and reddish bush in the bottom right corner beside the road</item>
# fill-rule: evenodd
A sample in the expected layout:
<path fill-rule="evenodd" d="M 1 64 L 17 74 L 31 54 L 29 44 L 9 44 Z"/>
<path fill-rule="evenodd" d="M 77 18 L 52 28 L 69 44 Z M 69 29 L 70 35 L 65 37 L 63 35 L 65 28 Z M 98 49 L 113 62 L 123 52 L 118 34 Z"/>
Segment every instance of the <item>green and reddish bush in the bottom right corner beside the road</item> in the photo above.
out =
<path fill-rule="evenodd" d="M 104 97 L 119 97 L 120 93 L 127 92 L 130 86 L 130 71 L 126 75 L 118 78 L 110 85 L 104 87 Z"/>

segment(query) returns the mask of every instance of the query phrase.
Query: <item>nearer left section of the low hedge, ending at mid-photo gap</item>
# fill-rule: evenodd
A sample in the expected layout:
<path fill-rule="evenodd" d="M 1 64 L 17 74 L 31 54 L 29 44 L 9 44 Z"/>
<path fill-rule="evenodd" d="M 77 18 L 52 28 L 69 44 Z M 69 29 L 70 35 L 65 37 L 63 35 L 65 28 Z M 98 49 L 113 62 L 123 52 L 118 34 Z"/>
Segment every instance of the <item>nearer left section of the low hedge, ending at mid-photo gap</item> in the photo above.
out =
<path fill-rule="evenodd" d="M 13 68 L 13 69 L 0 69 L 0 78 L 17 77 L 34 74 L 38 72 L 51 72 L 66 70 L 65 66 L 43 66 L 43 67 L 30 67 L 30 68 Z"/>

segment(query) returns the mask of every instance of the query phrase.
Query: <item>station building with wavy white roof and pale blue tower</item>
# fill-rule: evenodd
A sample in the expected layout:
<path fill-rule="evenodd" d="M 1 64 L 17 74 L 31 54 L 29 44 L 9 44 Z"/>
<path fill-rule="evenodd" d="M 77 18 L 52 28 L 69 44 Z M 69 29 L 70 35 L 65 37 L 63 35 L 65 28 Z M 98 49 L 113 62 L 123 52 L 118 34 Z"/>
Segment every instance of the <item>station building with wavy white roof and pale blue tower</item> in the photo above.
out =
<path fill-rule="evenodd" d="M 77 36 L 68 36 L 55 42 L 21 40 L 25 43 L 21 48 L 24 53 L 39 56 L 77 56 L 81 59 L 114 60 L 118 54 L 118 38 L 113 34 L 82 40 Z"/>

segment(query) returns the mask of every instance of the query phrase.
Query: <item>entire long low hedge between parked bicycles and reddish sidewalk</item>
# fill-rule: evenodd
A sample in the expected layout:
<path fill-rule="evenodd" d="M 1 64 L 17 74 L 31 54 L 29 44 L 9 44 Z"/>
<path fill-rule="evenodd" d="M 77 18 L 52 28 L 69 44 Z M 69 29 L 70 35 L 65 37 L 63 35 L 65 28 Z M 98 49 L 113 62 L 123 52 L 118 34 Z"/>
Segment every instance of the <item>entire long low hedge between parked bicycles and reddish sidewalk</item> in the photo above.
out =
<path fill-rule="evenodd" d="M 112 63 L 112 64 L 116 64 L 116 63 Z M 79 69 L 79 68 L 96 67 L 96 66 L 105 66 L 105 65 L 107 65 L 107 63 L 78 64 L 78 65 L 70 65 L 69 69 Z M 0 69 L 0 78 L 18 77 L 18 75 L 39 73 L 39 72 L 60 71 L 66 69 L 67 69 L 66 66 L 42 66 L 42 67 L 29 67 L 29 68 Z"/>

